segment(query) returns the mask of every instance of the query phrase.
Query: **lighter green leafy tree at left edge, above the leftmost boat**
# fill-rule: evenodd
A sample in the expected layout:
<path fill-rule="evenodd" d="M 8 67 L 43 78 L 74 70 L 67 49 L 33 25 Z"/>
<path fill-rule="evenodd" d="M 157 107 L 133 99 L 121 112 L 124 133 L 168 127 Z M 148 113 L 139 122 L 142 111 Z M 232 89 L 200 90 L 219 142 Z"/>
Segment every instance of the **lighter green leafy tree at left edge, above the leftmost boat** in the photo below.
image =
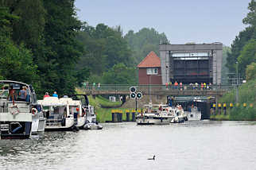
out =
<path fill-rule="evenodd" d="M 2 79 L 38 84 L 37 65 L 33 64 L 33 54 L 24 44 L 14 44 L 11 40 L 12 24 L 20 19 L 10 14 L 10 8 L 1 2 L 0 8 L 0 75 Z"/>

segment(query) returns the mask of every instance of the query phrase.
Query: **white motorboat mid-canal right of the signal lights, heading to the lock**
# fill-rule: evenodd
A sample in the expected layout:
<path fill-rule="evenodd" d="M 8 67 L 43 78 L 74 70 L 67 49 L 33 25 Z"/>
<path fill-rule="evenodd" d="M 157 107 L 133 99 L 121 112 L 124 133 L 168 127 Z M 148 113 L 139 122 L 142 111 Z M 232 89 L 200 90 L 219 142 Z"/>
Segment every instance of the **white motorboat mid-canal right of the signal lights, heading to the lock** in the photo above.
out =
<path fill-rule="evenodd" d="M 169 124 L 169 111 L 164 110 L 163 106 L 166 105 L 145 105 L 145 109 L 141 114 L 137 114 L 137 125 L 168 125 Z"/>

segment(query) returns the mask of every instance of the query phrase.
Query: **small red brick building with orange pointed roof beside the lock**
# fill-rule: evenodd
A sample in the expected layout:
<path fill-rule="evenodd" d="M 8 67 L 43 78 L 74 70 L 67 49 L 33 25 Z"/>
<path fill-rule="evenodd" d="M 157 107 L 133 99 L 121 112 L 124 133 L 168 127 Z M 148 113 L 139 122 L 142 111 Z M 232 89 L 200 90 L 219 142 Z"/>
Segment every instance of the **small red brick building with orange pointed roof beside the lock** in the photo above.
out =
<path fill-rule="evenodd" d="M 139 84 L 161 84 L 161 61 L 155 52 L 149 52 L 137 68 Z"/>

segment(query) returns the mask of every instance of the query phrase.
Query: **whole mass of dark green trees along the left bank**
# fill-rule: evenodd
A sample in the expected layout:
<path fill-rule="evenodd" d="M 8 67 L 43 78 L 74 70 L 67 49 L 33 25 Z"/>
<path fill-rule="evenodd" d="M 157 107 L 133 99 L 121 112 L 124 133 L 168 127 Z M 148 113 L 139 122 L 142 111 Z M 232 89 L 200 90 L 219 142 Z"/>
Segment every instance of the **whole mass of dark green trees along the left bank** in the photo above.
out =
<path fill-rule="evenodd" d="M 0 75 L 45 91 L 72 93 L 83 46 L 74 0 L 0 2 Z"/>

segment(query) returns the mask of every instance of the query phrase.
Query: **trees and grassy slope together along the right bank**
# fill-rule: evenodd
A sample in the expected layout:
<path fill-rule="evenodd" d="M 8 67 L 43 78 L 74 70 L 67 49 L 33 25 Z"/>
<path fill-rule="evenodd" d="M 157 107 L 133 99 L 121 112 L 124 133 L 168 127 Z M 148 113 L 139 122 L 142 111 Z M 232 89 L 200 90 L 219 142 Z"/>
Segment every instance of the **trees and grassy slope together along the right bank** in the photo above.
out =
<path fill-rule="evenodd" d="M 215 103 L 215 120 L 256 120 L 256 2 L 251 0 L 249 13 L 242 20 L 248 25 L 235 37 L 231 51 L 227 53 L 227 68 L 231 73 L 239 72 L 246 83 L 239 87 L 239 102 L 235 102 L 235 89 Z M 238 68 L 236 68 L 239 66 Z M 238 76 L 238 75 L 236 75 Z M 233 106 L 230 106 L 233 105 Z M 226 107 L 223 107 L 226 105 Z M 219 107 L 220 106 L 220 107 Z M 224 114 L 226 112 L 226 115 Z"/>

